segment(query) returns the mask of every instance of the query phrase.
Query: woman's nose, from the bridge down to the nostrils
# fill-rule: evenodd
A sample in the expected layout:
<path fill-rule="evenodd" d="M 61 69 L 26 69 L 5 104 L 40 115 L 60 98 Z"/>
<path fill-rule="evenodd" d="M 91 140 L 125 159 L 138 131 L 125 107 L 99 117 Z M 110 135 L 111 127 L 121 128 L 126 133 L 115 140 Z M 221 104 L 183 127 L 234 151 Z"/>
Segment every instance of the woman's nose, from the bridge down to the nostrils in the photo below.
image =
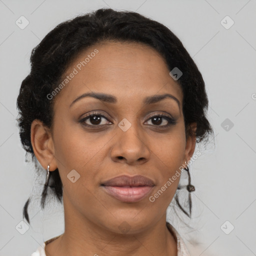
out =
<path fill-rule="evenodd" d="M 131 165 L 145 163 L 150 150 L 146 133 L 131 125 L 126 131 L 117 127 L 110 155 L 113 161 Z"/>

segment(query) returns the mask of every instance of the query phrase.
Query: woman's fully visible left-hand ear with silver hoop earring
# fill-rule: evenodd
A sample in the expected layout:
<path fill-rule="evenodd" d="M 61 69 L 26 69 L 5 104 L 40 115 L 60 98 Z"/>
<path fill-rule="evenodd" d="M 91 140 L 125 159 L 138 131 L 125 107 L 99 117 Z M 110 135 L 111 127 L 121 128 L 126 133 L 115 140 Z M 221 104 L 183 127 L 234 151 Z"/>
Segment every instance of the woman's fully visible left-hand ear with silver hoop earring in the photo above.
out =
<path fill-rule="evenodd" d="M 34 119 L 30 129 L 31 144 L 33 152 L 44 169 L 55 170 L 57 168 L 55 160 L 54 144 L 50 129 L 40 120 Z"/>

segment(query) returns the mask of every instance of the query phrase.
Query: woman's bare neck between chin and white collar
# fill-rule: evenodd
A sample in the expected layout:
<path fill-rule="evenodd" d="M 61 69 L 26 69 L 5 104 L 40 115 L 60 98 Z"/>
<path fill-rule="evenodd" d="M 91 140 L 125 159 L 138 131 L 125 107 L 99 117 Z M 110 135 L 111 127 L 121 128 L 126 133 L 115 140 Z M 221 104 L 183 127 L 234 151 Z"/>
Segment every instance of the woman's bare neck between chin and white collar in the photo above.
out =
<path fill-rule="evenodd" d="M 65 208 L 65 203 L 64 203 Z M 74 211 L 65 211 L 65 232 L 45 246 L 45 254 L 94 256 L 176 256 L 176 240 L 166 226 L 166 213 L 136 232 L 119 233 L 93 223 Z"/>

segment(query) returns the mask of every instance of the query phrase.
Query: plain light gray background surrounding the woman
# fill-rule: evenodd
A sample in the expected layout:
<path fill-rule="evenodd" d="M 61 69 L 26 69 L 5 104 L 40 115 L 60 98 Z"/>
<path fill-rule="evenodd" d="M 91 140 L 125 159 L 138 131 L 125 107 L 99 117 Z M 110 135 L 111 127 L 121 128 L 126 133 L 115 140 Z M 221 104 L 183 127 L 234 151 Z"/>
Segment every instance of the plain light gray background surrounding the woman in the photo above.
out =
<path fill-rule="evenodd" d="M 0 0 L 0 255 L 30 255 L 64 228 L 60 204 L 39 208 L 46 172 L 36 176 L 24 161 L 15 121 L 31 50 L 58 23 L 107 6 L 137 11 L 168 26 L 206 84 L 215 137 L 190 166 L 196 189 L 193 218 L 179 215 L 193 230 L 168 208 L 173 226 L 193 256 L 256 255 L 256 0 Z M 21 15 L 29 21 L 24 29 L 15 24 Z M 234 21 L 228 29 L 221 23 L 226 15 Z M 231 24 L 226 18 L 222 22 Z M 21 234 L 16 227 L 30 193 L 31 226 Z M 234 229 L 226 234 L 231 225 Z"/>

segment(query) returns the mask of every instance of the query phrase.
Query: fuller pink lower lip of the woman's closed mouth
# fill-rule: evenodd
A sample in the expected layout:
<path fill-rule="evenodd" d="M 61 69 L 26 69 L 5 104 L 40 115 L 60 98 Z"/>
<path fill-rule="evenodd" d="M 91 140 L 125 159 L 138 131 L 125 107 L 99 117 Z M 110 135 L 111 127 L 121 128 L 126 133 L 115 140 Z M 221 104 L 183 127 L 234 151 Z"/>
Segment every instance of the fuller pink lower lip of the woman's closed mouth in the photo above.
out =
<path fill-rule="evenodd" d="M 153 186 L 103 186 L 104 190 L 115 199 L 123 202 L 137 202 L 144 198 Z"/>

